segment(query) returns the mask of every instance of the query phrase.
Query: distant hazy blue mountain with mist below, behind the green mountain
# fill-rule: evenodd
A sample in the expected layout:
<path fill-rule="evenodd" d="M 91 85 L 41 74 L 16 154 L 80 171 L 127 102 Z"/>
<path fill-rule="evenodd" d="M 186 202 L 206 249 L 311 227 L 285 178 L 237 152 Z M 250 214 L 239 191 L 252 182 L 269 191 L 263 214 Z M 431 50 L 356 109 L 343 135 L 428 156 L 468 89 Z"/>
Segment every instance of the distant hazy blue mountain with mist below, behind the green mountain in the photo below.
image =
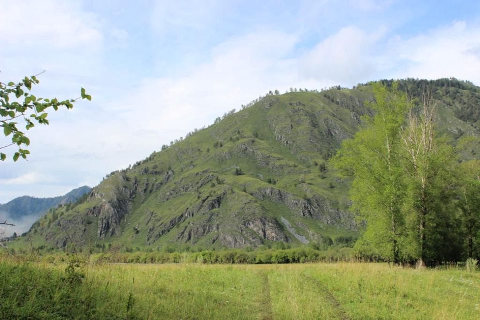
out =
<path fill-rule="evenodd" d="M 14 227 L 8 227 L 5 230 L 7 235 L 13 232 L 19 234 L 28 230 L 31 224 L 50 208 L 61 204 L 73 203 L 90 191 L 90 187 L 82 186 L 71 190 L 65 195 L 53 198 L 21 196 L 7 203 L 0 204 L 0 220 L 8 220 L 8 222 L 15 224 Z"/>

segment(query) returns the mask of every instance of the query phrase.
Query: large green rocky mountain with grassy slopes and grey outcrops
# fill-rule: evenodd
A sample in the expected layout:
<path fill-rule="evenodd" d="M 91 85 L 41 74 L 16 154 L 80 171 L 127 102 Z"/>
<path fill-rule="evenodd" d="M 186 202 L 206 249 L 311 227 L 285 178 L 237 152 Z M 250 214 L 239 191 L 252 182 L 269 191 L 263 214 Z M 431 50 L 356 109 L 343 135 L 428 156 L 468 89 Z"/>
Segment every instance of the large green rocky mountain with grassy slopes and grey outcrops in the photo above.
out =
<path fill-rule="evenodd" d="M 400 87 L 419 97 L 426 83 L 440 134 L 452 143 L 480 137 L 480 88 L 455 79 Z M 83 203 L 50 212 L 9 245 L 215 248 L 355 237 L 348 181 L 327 160 L 371 113 L 368 101 L 369 84 L 269 94 L 112 172 Z M 480 152 L 478 141 L 462 148 L 463 158 Z"/>

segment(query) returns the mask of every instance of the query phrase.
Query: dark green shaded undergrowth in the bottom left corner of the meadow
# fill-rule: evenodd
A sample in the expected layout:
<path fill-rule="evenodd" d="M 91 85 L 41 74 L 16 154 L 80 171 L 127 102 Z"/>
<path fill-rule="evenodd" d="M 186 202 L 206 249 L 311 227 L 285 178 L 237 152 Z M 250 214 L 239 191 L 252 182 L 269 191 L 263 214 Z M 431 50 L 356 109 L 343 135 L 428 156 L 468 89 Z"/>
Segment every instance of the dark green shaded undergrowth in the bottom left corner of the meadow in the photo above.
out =
<path fill-rule="evenodd" d="M 34 263 L 0 261 L 0 318 L 123 318 L 123 310 L 107 307 L 105 299 L 115 301 L 104 284 L 78 281 L 76 276 Z"/>

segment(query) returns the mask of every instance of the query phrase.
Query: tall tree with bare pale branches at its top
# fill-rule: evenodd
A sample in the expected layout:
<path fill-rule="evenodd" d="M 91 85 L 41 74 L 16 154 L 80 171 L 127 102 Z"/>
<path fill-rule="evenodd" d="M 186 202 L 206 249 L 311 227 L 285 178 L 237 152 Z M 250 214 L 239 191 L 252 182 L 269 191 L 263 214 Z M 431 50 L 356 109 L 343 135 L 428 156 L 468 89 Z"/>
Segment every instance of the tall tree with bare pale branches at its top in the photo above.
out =
<path fill-rule="evenodd" d="M 450 260 L 457 248 L 457 223 L 453 204 L 456 165 L 453 147 L 435 138 L 435 105 L 432 93 L 423 89 L 420 110 L 410 109 L 401 132 L 408 180 L 406 213 L 410 221 L 409 252 L 423 267 L 425 261 Z M 452 238 L 453 237 L 453 238 Z M 446 241 L 446 239 L 450 241 Z"/>

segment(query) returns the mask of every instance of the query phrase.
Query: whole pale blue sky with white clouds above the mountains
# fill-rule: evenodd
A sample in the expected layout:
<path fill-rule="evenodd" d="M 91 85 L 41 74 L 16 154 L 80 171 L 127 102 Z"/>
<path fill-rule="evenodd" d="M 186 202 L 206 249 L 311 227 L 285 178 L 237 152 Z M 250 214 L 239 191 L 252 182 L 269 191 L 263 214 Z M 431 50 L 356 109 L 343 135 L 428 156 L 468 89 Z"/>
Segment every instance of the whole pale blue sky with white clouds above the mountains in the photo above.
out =
<path fill-rule="evenodd" d="M 1 82 L 92 96 L 29 130 L 27 161 L 2 150 L 0 203 L 93 187 L 269 90 L 480 85 L 479 1 L 0 0 L 0 39 Z"/>

